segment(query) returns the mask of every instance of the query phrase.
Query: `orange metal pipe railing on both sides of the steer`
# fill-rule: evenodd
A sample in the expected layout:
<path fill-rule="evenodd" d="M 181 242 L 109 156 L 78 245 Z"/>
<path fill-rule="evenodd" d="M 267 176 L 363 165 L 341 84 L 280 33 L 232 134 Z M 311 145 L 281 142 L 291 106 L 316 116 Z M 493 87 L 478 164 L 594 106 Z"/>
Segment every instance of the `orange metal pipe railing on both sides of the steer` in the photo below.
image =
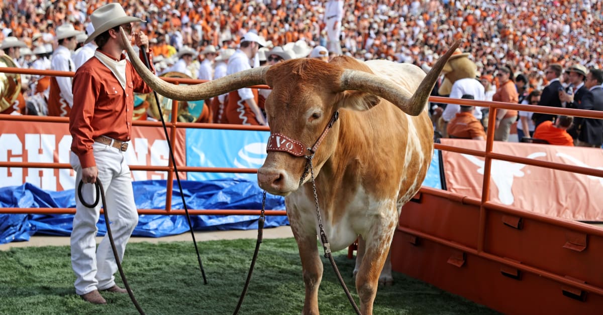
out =
<path fill-rule="evenodd" d="M 24 73 L 30 75 L 51 75 L 51 76 L 73 76 L 74 72 L 63 72 L 63 71 L 50 71 L 50 70 L 34 70 L 34 69 L 19 69 L 19 68 L 7 68 L 0 67 L 0 72 L 6 73 Z M 175 84 L 197 84 L 203 83 L 204 80 L 189 80 L 181 78 L 163 78 L 163 80 L 169 81 Z M 268 88 L 267 86 L 254 86 L 260 89 Z M 520 158 L 513 155 L 499 154 L 492 151 L 493 140 L 494 140 L 494 122 L 496 119 L 496 109 L 504 108 L 508 110 L 522 110 L 522 111 L 533 111 L 538 113 L 551 113 L 551 114 L 563 114 L 568 116 L 579 116 L 579 117 L 592 117 L 597 119 L 603 119 L 602 111 L 589 111 L 589 110 L 576 110 L 570 108 L 552 108 L 552 107 L 541 107 L 537 105 L 522 105 L 522 104 L 510 104 L 504 102 L 487 102 L 487 101 L 475 101 L 470 99 L 450 99 L 442 98 L 437 96 L 431 96 L 429 98 L 431 102 L 439 103 L 454 103 L 459 105 L 475 105 L 481 107 L 490 107 L 490 116 L 488 122 L 488 131 L 486 139 L 485 151 L 470 150 L 464 148 L 455 148 L 453 146 L 441 145 L 435 143 L 435 148 L 445 151 L 452 151 L 458 153 L 466 153 L 477 155 L 479 157 L 485 157 L 484 166 L 484 182 L 482 185 L 482 198 L 480 205 L 480 241 L 478 251 L 483 249 L 483 234 L 484 234 L 484 222 L 488 207 L 493 207 L 490 200 L 490 167 L 491 160 L 505 160 L 517 163 L 529 164 L 533 166 L 549 167 L 552 169 L 566 170 L 568 172 L 582 173 L 586 175 L 594 175 L 603 177 L 603 170 L 593 169 L 589 167 L 581 166 L 569 166 L 566 164 L 538 161 L 529 158 Z M 178 102 L 174 101 L 172 106 L 172 112 L 177 112 Z M 253 131 L 269 131 L 267 126 L 242 126 L 242 125 L 223 125 L 215 123 L 185 123 L 177 122 L 176 115 L 172 115 L 172 121 L 167 122 L 166 126 L 169 128 L 171 139 L 175 139 L 177 128 L 201 128 L 201 129 L 233 129 L 233 130 L 253 130 Z M 0 115 L 0 120 L 14 120 L 14 121 L 29 121 L 29 122 L 56 122 L 56 123 L 68 123 L 67 117 L 42 117 L 42 116 L 12 116 L 12 115 Z M 151 121 L 140 121 L 134 120 L 133 125 L 137 126 L 161 126 L 160 122 Z M 66 163 L 29 163 L 29 162 L 0 162 L 0 167 L 36 167 L 36 168 L 71 168 Z M 238 169 L 238 168 L 227 168 L 227 167 L 191 167 L 191 166 L 180 166 L 178 170 L 182 172 L 223 172 L 223 173 L 256 173 L 257 169 Z M 139 209 L 140 214 L 182 214 L 182 210 L 171 209 L 171 198 L 172 198 L 172 183 L 174 179 L 174 165 L 172 160 L 169 159 L 168 166 L 131 166 L 131 170 L 153 170 L 153 171 L 165 171 L 168 172 L 167 180 L 167 196 L 165 210 L 157 209 Z M 505 208 L 505 206 L 496 206 Z M 510 207 L 506 207 L 509 208 Z M 0 213 L 74 213 L 75 209 L 71 208 L 0 208 Z M 191 214 L 230 214 L 226 210 L 190 210 Z M 273 215 L 284 215 L 284 210 L 273 210 L 269 211 Z M 259 214 L 259 210 L 236 210 L 236 214 Z"/>

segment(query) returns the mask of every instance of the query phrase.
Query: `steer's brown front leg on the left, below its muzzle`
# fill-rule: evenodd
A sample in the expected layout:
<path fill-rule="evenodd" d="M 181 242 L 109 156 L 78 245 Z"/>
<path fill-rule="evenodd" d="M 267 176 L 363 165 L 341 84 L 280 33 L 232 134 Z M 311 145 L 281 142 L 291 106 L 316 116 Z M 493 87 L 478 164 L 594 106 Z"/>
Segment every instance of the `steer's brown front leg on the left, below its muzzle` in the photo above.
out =
<path fill-rule="evenodd" d="M 300 252 L 301 270 L 306 286 L 306 298 L 303 303 L 303 314 L 318 314 L 318 286 L 323 278 L 323 263 L 318 256 L 316 244 L 316 231 L 305 231 L 296 226 L 289 215 L 291 230 Z M 314 227 L 314 226 L 312 226 Z"/>

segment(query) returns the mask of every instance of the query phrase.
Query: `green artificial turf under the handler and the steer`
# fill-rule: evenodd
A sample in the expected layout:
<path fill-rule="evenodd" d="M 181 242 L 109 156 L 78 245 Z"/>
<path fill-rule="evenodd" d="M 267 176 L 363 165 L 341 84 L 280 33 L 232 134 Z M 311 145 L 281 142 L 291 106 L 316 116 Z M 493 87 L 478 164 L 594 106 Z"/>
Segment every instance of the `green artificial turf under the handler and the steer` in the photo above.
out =
<path fill-rule="evenodd" d="M 255 243 L 245 239 L 198 243 L 207 285 L 191 242 L 130 243 L 124 271 L 147 314 L 232 314 Z M 346 254 L 340 251 L 333 257 L 358 303 L 351 276 L 354 261 Z M 68 246 L 0 251 L 0 314 L 137 314 L 127 294 L 103 293 L 106 305 L 84 302 L 75 294 L 69 255 Z M 353 314 L 329 261 L 322 260 L 321 314 Z M 394 281 L 391 287 L 379 288 L 374 314 L 496 313 L 401 273 L 394 273 Z M 300 314 L 303 299 L 295 240 L 264 240 L 239 314 Z"/>

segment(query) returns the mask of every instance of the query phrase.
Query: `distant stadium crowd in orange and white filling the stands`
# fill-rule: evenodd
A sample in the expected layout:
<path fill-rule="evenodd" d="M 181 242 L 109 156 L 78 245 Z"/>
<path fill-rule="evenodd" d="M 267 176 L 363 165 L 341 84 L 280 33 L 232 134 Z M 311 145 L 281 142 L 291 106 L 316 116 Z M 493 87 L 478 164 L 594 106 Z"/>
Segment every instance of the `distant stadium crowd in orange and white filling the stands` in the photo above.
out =
<path fill-rule="evenodd" d="M 603 66 L 601 1 L 341 1 L 343 10 L 336 17 L 331 13 L 336 9 L 329 7 L 329 2 L 337 1 L 130 0 L 121 4 L 128 15 L 147 21 L 140 27 L 150 39 L 158 72 L 173 70 L 181 57 L 192 55 L 192 60 L 185 63 L 192 78 L 200 77 L 205 59 L 215 67 L 220 59 L 213 58 L 226 49 L 238 48 L 249 32 L 257 33 L 268 46 L 254 58 L 259 59 L 253 61 L 256 65 L 267 59 L 273 47 L 289 49 L 291 57 L 308 57 L 311 49 L 320 45 L 329 47 L 330 55 L 340 53 L 361 60 L 387 58 L 426 69 L 450 43 L 464 39 L 461 50 L 469 52 L 475 61 L 478 76 L 487 79 L 494 89 L 499 85 L 498 69 L 506 66 L 514 77 L 521 75 L 527 81 L 522 88 L 525 95 L 548 84 L 545 70 L 549 64 L 560 64 L 563 69 L 573 64 L 587 69 Z M 51 58 L 59 46 L 58 27 L 70 23 L 74 30 L 85 31 L 89 14 L 106 3 L 2 2 L 2 49 L 7 54 L 4 43 L 16 37 L 25 45 L 14 60 L 20 67 L 34 67 L 36 59 Z M 341 19 L 333 28 L 340 31 L 336 49 L 327 34 L 333 17 Z M 85 38 L 78 38 L 78 46 Z M 207 53 L 210 47 L 215 52 Z M 28 86 L 27 77 L 24 79 L 27 99 L 36 87 Z M 36 83 L 36 78 L 29 79 L 31 84 Z"/>

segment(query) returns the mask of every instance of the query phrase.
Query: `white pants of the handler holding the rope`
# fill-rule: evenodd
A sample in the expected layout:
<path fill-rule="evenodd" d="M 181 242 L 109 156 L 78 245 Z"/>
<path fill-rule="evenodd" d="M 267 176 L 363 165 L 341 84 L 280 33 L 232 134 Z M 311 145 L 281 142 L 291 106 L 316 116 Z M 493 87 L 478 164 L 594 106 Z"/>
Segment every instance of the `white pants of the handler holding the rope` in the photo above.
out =
<path fill-rule="evenodd" d="M 113 240 L 119 254 L 124 257 L 125 245 L 138 223 L 138 213 L 134 204 L 130 168 L 125 163 L 124 152 L 103 143 L 93 144 L 94 158 L 98 167 L 98 178 L 103 184 L 107 200 L 107 214 L 111 222 Z M 77 172 L 75 178 L 76 213 L 71 232 L 71 265 L 75 273 L 75 293 L 84 295 L 94 290 L 104 290 L 115 284 L 113 274 L 118 270 L 113 257 L 109 237 L 105 235 L 96 248 L 96 222 L 102 202 L 96 208 L 84 207 L 78 198 L 77 187 L 81 180 L 80 159 L 71 152 L 71 166 Z M 84 184 L 82 195 L 86 203 L 95 200 L 95 186 Z M 96 251 L 95 251 L 96 249 Z"/>

